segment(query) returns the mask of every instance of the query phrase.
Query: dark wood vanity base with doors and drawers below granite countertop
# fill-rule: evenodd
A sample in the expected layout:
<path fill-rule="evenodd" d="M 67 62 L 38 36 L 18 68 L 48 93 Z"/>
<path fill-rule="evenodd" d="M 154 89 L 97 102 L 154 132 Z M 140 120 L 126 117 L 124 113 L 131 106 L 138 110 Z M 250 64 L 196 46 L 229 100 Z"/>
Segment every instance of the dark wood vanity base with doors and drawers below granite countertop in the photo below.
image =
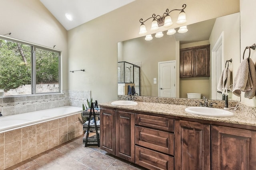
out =
<path fill-rule="evenodd" d="M 100 149 L 150 170 L 256 170 L 255 127 L 100 109 Z"/>

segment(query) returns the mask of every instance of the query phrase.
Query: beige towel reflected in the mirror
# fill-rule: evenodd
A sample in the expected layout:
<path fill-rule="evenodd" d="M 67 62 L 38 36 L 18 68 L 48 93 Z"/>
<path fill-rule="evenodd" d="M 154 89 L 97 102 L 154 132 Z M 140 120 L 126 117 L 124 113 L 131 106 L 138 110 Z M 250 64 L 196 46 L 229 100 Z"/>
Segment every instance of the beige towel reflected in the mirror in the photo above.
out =
<path fill-rule="evenodd" d="M 218 86 L 217 86 L 217 89 L 219 91 L 223 91 L 222 89 L 229 89 L 229 86 L 230 86 L 230 70 L 229 68 L 225 68 L 221 75 L 220 75 L 220 80 L 219 80 L 219 83 L 218 83 Z"/>

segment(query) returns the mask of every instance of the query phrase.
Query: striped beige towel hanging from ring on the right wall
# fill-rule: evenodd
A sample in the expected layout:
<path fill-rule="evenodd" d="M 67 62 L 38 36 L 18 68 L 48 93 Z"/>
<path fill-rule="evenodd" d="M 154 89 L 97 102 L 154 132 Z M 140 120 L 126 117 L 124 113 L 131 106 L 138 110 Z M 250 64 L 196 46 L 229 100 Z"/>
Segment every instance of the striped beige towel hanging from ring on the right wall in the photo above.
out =
<path fill-rule="evenodd" d="M 244 92 L 245 98 L 253 98 L 256 92 L 256 70 L 252 59 L 244 59 L 237 70 L 234 78 L 233 94 L 236 96 Z"/>

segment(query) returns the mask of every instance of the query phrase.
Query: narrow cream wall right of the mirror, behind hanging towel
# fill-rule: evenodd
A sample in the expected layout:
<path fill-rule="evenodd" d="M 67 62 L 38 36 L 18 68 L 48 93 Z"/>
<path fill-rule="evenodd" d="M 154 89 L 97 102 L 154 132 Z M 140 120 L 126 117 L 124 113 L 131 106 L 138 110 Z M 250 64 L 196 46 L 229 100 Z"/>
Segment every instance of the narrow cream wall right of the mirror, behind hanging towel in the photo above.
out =
<path fill-rule="evenodd" d="M 251 46 L 256 43 L 256 1 L 255 0 L 240 0 L 240 18 L 241 18 L 241 51 L 240 57 L 243 60 L 243 53 L 246 46 Z M 248 55 L 248 51 L 247 51 Z M 256 63 L 256 51 L 251 50 L 251 57 Z M 244 93 L 241 94 L 241 101 L 249 106 L 256 107 L 256 98 L 244 98 Z"/>

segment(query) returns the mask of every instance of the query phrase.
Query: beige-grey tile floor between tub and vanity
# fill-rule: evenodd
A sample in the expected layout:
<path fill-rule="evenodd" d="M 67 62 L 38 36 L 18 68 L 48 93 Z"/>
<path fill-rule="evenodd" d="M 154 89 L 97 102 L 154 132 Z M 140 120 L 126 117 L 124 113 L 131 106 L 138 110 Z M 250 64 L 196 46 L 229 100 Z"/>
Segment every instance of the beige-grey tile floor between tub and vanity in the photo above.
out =
<path fill-rule="evenodd" d="M 6 170 L 146 170 L 77 137 Z"/>

